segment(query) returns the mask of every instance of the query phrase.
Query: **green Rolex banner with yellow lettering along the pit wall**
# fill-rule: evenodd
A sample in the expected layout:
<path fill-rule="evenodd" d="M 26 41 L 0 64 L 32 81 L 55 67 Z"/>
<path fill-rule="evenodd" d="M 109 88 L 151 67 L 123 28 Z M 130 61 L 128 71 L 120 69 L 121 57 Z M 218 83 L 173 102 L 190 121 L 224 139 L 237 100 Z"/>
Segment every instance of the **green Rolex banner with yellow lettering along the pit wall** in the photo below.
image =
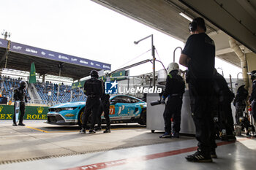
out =
<path fill-rule="evenodd" d="M 48 107 L 28 107 L 26 106 L 24 120 L 46 120 Z M 0 120 L 12 120 L 14 106 L 0 105 Z"/>

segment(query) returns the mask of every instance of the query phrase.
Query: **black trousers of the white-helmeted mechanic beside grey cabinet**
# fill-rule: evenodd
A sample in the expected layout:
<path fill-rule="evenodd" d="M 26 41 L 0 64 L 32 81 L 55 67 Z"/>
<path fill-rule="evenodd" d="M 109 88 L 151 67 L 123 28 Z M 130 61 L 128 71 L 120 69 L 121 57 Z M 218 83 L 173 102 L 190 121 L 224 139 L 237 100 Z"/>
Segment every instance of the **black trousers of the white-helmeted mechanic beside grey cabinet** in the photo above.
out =
<path fill-rule="evenodd" d="M 171 96 L 165 105 L 164 120 L 165 131 L 171 133 L 171 117 L 173 117 L 173 132 L 181 130 L 181 106 L 182 96 Z"/>

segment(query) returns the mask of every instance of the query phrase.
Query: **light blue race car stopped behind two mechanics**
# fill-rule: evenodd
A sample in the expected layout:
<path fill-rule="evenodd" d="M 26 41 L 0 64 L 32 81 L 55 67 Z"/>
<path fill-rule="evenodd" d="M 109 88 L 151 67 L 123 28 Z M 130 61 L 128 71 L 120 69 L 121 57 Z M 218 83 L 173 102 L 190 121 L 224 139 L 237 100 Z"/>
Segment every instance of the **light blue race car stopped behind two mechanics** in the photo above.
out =
<path fill-rule="evenodd" d="M 86 102 L 69 102 L 49 107 L 47 122 L 55 125 L 82 125 Z M 102 123 L 105 118 L 102 116 Z M 146 125 L 146 102 L 127 95 L 110 97 L 111 123 L 140 123 Z"/>

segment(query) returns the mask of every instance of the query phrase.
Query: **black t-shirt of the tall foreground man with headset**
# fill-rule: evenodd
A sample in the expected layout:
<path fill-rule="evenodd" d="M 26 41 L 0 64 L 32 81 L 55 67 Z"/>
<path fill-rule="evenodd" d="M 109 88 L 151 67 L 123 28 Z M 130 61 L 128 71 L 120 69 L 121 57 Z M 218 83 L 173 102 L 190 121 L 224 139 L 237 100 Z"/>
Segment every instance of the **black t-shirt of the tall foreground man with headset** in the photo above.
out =
<path fill-rule="evenodd" d="M 214 74 L 215 45 L 205 33 L 193 34 L 187 39 L 182 53 L 189 61 L 190 78 L 212 78 Z"/>

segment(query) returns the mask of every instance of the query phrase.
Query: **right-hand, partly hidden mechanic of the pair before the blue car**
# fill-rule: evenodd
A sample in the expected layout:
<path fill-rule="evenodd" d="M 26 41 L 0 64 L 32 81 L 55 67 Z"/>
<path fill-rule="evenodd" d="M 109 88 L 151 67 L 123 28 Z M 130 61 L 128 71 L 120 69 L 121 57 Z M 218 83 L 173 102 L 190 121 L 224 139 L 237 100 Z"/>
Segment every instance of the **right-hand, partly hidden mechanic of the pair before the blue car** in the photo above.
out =
<path fill-rule="evenodd" d="M 102 81 L 102 85 L 103 85 L 103 89 L 105 89 L 105 85 L 103 80 Z M 110 118 L 109 118 L 109 108 L 110 108 L 110 100 L 109 100 L 110 96 L 109 94 L 105 93 L 105 90 L 103 90 L 103 95 L 101 98 L 101 104 L 99 107 L 99 114 L 97 115 L 97 128 L 95 128 L 95 131 L 101 131 L 102 129 L 102 112 L 104 112 L 104 117 L 106 120 L 106 129 L 105 131 L 103 131 L 103 133 L 110 133 Z"/>

